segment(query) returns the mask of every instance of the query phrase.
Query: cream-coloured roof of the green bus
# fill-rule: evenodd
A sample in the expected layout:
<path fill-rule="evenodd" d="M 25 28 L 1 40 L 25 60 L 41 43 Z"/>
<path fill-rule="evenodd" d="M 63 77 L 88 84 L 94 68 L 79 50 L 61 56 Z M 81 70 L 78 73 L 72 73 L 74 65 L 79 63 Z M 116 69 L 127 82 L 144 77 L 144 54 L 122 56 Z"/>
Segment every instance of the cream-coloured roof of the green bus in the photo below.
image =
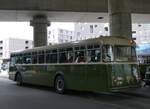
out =
<path fill-rule="evenodd" d="M 131 42 L 132 41 L 132 42 Z M 64 47 L 73 47 L 78 45 L 86 45 L 86 44 L 103 44 L 103 45 L 126 45 L 131 46 L 135 45 L 135 42 L 131 39 L 119 36 L 101 36 L 98 38 L 86 39 L 81 41 L 74 41 L 70 43 L 62 43 L 62 44 L 55 44 L 55 45 L 48 45 L 42 47 L 35 47 L 33 49 L 23 50 L 22 52 L 34 52 L 37 50 L 47 50 L 47 49 L 57 49 L 57 48 L 64 48 Z M 13 54 L 18 52 L 13 52 Z M 20 52 L 19 52 L 20 53 Z"/>

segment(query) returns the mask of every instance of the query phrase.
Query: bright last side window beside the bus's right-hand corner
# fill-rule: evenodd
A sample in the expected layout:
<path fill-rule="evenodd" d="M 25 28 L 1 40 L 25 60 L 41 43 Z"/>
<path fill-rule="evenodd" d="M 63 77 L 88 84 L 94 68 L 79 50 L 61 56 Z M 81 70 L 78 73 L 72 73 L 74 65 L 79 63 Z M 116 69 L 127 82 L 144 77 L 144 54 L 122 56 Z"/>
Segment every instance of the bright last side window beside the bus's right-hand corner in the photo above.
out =
<path fill-rule="evenodd" d="M 111 45 L 103 45 L 102 52 L 103 62 L 113 61 L 113 48 Z"/>

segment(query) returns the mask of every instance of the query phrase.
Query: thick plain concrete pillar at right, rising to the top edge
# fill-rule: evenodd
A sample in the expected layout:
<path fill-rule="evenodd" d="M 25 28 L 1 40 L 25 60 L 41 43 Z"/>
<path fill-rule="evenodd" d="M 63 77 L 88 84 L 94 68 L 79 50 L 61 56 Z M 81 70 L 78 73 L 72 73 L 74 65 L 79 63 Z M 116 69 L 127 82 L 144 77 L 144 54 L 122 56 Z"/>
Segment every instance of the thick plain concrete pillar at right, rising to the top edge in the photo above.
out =
<path fill-rule="evenodd" d="M 130 0 L 108 0 L 111 36 L 132 38 Z"/>

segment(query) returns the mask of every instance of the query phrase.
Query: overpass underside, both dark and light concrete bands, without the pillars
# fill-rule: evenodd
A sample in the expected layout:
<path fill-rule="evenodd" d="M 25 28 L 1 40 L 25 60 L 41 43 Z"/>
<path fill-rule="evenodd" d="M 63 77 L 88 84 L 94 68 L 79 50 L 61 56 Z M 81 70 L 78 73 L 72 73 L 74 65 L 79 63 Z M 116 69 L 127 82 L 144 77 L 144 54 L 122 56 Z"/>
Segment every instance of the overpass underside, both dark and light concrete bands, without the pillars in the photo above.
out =
<path fill-rule="evenodd" d="M 0 21 L 30 21 L 45 14 L 52 22 L 108 22 L 107 4 L 107 0 L 0 0 Z M 133 23 L 150 22 L 150 0 L 131 0 L 129 5 Z"/>

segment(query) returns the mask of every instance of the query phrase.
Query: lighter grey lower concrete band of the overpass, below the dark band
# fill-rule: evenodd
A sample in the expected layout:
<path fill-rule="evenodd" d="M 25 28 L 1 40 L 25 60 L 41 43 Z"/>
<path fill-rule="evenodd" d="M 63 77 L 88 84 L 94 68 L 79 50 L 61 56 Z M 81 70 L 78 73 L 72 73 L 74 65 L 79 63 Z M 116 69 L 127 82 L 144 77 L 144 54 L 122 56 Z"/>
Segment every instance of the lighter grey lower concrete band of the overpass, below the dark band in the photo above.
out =
<path fill-rule="evenodd" d="M 30 21 L 33 15 L 46 14 L 52 22 L 109 22 L 108 13 L 99 12 L 47 12 L 47 11 L 0 11 L 0 21 Z M 98 19 L 102 17 L 102 19 Z M 150 23 L 150 14 L 132 14 L 133 23 Z"/>

